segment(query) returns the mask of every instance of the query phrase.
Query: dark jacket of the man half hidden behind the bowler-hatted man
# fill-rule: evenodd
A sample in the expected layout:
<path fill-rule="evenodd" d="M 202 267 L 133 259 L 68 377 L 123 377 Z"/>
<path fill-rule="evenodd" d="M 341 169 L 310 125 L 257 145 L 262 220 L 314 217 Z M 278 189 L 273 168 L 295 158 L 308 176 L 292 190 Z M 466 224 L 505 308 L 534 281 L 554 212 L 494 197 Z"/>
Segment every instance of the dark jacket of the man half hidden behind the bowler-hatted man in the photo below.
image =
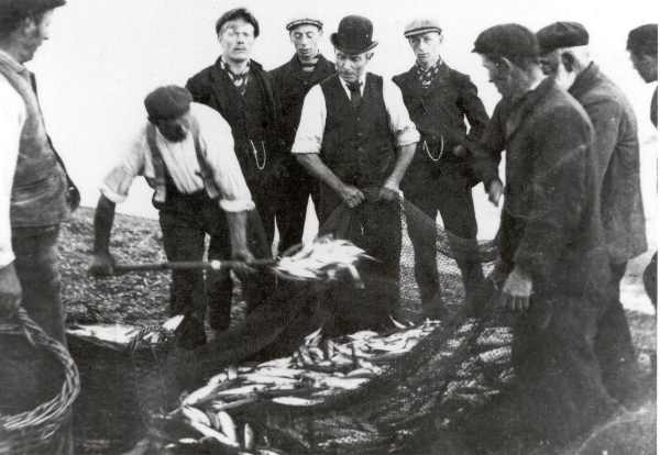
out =
<path fill-rule="evenodd" d="M 282 138 L 287 152 L 290 151 L 296 138 L 296 130 L 298 130 L 298 124 L 300 123 L 305 96 L 307 96 L 311 87 L 332 76 L 334 73 L 334 64 L 326 59 L 322 55 L 319 55 L 319 59 L 311 74 L 302 70 L 297 55 L 294 55 L 284 65 L 270 71 L 273 80 L 273 92 L 282 109 Z"/>

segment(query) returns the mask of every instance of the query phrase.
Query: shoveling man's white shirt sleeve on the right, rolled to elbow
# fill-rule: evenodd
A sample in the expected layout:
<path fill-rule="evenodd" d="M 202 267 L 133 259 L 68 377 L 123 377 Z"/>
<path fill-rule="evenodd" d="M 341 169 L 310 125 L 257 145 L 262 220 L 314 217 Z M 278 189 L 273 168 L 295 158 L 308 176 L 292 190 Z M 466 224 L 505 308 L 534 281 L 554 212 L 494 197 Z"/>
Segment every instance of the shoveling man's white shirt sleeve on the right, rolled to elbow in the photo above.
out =
<path fill-rule="evenodd" d="M 231 127 L 220 114 L 213 114 L 212 123 L 205 123 L 206 127 L 200 129 L 200 140 L 220 190 L 220 208 L 227 212 L 253 210 L 254 202 L 234 152 Z"/>

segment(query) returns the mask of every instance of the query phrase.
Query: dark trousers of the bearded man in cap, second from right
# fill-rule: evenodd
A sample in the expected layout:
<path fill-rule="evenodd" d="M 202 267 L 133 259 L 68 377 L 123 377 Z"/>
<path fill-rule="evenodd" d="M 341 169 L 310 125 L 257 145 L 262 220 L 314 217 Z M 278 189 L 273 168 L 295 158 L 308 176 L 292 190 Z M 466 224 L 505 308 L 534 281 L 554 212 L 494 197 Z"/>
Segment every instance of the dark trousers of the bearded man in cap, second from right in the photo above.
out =
<path fill-rule="evenodd" d="M 620 282 L 626 273 L 626 263 L 610 264 L 612 279 L 608 301 L 598 320 L 595 352 L 603 370 L 603 381 L 609 395 L 617 400 L 632 397 L 637 389 L 637 359 L 632 336 L 619 300 Z"/>

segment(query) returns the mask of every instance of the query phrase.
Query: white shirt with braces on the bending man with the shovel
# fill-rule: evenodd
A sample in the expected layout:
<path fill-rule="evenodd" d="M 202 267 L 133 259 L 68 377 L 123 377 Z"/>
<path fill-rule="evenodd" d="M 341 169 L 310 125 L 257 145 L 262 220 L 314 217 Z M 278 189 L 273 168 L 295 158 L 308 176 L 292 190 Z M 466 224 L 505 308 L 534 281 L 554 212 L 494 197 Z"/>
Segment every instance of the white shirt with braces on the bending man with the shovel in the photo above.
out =
<path fill-rule="evenodd" d="M 213 109 L 195 102 L 190 103 L 190 114 L 199 125 L 199 145 L 220 190 L 220 207 L 228 212 L 254 209 L 250 189 L 234 153 L 229 123 Z M 128 153 L 108 174 L 100 188 L 103 196 L 116 203 L 125 200 L 133 179 L 138 176 L 144 176 L 150 186 L 155 185 L 146 127 L 147 124 L 140 130 Z M 204 189 L 191 134 L 182 142 L 169 142 L 156 129 L 156 145 L 180 192 L 190 195 Z"/>

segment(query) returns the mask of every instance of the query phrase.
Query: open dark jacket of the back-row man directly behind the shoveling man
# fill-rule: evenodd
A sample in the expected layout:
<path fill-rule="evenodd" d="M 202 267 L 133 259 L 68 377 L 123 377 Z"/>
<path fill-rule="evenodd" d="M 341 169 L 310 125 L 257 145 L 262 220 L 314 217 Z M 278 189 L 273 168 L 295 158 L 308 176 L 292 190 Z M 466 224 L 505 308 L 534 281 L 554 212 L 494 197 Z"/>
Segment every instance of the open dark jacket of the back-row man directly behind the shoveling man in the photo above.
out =
<path fill-rule="evenodd" d="M 250 71 L 265 99 L 266 124 L 264 125 L 264 130 L 267 132 L 265 146 L 268 159 L 266 167 L 263 169 L 263 177 L 258 179 L 266 185 L 272 182 L 273 178 L 279 177 L 282 173 L 284 146 L 279 131 L 280 109 L 273 92 L 271 76 L 254 60 L 250 62 Z M 239 162 L 241 162 L 243 174 L 249 184 L 253 181 L 256 178 L 254 169 L 245 166 L 245 163 L 252 163 L 250 157 L 253 151 L 248 141 L 246 116 L 244 110 L 241 109 L 242 98 L 233 87 L 227 73 L 220 66 L 220 59 L 215 65 L 202 69 L 188 79 L 186 88 L 193 93 L 194 101 L 213 108 L 227 120 L 231 126 L 234 149 Z"/>

